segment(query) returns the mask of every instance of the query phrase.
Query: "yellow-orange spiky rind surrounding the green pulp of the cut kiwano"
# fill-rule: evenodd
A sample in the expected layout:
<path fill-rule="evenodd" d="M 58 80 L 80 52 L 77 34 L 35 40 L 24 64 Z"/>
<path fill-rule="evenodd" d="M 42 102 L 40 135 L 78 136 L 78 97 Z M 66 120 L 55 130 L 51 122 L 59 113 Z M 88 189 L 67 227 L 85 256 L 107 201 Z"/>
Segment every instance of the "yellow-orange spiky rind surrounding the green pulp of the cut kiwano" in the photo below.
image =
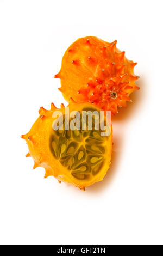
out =
<path fill-rule="evenodd" d="M 74 109 L 80 110 L 84 106 L 89 105 L 92 106 L 91 103 L 77 104 L 71 100 L 68 107 L 70 108 L 71 112 Z M 52 118 L 55 110 L 64 113 L 64 105 L 61 104 L 61 108 L 57 109 L 52 103 L 51 110 L 49 111 L 41 107 L 39 111 L 40 117 L 35 121 L 30 131 L 26 135 L 21 136 L 23 139 L 26 140 L 29 149 L 29 153 L 26 155 L 26 157 L 31 156 L 33 158 L 35 162 L 33 167 L 34 169 L 36 167 L 45 168 L 45 178 L 47 178 L 48 176 L 54 176 L 58 179 L 59 182 L 67 182 L 68 184 L 79 187 L 80 190 L 85 191 L 85 187 L 102 180 L 109 169 L 112 150 L 112 127 L 111 135 L 107 144 L 107 161 L 105 162 L 103 168 L 92 180 L 81 181 L 74 178 L 71 173 L 68 172 L 67 169 L 62 166 L 62 164 L 58 160 L 54 159 L 52 152 L 49 149 L 49 133 L 51 133 L 52 124 L 55 120 L 55 118 Z M 101 109 L 99 109 L 99 111 L 100 110 Z"/>

